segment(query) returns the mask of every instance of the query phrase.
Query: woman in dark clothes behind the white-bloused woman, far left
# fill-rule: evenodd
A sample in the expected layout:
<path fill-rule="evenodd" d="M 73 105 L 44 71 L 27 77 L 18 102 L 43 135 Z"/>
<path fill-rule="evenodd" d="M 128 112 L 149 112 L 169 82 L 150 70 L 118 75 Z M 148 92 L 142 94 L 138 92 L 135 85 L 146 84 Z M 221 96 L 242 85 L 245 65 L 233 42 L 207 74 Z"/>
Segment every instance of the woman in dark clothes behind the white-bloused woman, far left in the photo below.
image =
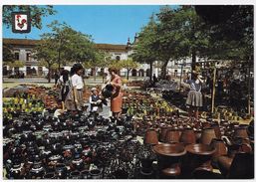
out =
<path fill-rule="evenodd" d="M 62 110 L 65 110 L 66 108 L 68 108 L 68 106 L 66 106 L 66 104 L 67 104 L 66 98 L 67 98 L 69 91 L 71 90 L 71 82 L 69 80 L 69 71 L 67 71 L 67 70 L 62 71 L 61 77 L 58 80 L 57 85 L 61 89 L 60 99 L 62 101 Z"/>

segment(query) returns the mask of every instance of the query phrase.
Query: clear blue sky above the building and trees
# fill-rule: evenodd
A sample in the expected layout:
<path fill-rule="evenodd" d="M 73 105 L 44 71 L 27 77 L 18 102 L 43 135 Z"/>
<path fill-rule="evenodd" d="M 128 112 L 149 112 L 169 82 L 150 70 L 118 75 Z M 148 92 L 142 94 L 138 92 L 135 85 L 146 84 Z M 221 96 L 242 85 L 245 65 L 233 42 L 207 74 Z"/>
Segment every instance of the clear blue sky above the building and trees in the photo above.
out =
<path fill-rule="evenodd" d="M 66 22 L 76 31 L 92 35 L 95 43 L 127 44 L 145 26 L 160 5 L 55 5 L 57 13 L 43 17 L 42 30 L 32 28 L 29 34 L 14 34 L 3 26 L 3 38 L 40 39 L 50 32 L 46 25 L 54 20 Z"/>

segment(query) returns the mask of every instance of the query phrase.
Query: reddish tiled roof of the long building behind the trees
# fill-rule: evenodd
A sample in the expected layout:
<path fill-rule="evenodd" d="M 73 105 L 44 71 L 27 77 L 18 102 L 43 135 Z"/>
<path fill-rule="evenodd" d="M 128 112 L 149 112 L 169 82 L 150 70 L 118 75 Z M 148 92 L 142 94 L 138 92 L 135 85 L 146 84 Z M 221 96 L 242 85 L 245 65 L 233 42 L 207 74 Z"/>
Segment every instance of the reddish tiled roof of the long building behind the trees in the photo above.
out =
<path fill-rule="evenodd" d="M 3 44 L 18 46 L 36 46 L 40 40 L 32 39 L 3 39 Z M 108 52 L 127 52 L 127 45 L 96 44 L 96 48 Z"/>

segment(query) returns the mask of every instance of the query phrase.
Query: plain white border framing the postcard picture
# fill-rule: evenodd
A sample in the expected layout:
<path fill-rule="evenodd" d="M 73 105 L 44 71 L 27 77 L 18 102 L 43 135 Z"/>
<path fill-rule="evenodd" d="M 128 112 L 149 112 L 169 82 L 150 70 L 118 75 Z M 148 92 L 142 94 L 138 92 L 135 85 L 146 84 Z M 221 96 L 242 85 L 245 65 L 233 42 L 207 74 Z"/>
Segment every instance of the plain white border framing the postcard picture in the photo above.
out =
<path fill-rule="evenodd" d="M 186 1 L 186 0 L 171 0 L 171 1 L 166 1 L 166 0 L 87 0 L 85 2 L 85 0 L 73 0 L 73 1 L 65 1 L 65 0 L 55 0 L 55 1 L 50 1 L 50 0 L 2 0 L 0 1 L 1 7 L 0 7 L 0 19 L 2 20 L 2 5 L 8 5 L 8 4 L 14 4 L 14 5 L 255 5 L 255 0 L 208 0 L 208 1 L 202 1 L 202 0 L 190 0 L 190 1 Z M 255 7 L 254 7 L 254 21 L 255 21 Z M 0 33 L 0 45 L 1 45 L 1 51 L 0 51 L 0 60 L 2 60 L 2 23 L 0 24 L 0 29 L 1 29 L 1 33 Z M 255 34 L 254 34 L 254 40 L 255 40 Z M 255 49 L 254 49 L 254 57 L 255 57 Z M 1 62 L 2 65 L 2 62 Z M 1 67 L 2 68 L 2 67 Z M 256 65 L 254 64 L 254 71 L 256 69 Z M 0 69 L 0 79 L 2 81 L 2 69 Z M 256 86 L 256 81 L 254 80 L 254 86 Z M 2 82 L 0 84 L 1 89 L 3 89 L 3 85 Z M 255 91 L 256 92 L 256 91 Z M 254 95 L 255 95 L 254 92 Z M 2 91 L 0 91 L 0 117 L 2 118 Z M 256 108 L 256 106 L 254 106 L 254 113 Z M 2 138 L 2 119 L 0 119 L 1 121 L 1 131 L 0 131 L 0 138 Z M 2 165 L 3 165 L 3 148 L 2 148 L 2 139 L 0 139 L 0 145 L 1 145 L 1 149 L 0 149 L 0 178 L 3 179 L 3 172 L 2 172 Z M 255 157 L 254 157 L 255 158 Z M 255 161 L 254 161 L 254 165 L 255 165 Z M 255 166 L 254 166 L 255 167 Z M 254 179 L 252 179 L 254 180 Z M 252 181 L 249 180 L 249 181 Z M 46 181 L 46 180 L 15 180 L 15 181 Z M 55 181 L 71 181 L 71 180 L 55 180 Z M 73 180 L 74 181 L 74 180 Z M 91 180 L 92 181 L 92 180 Z M 100 180 L 99 180 L 100 181 Z M 113 180 L 104 180 L 104 181 L 113 181 Z M 120 181 L 120 180 L 119 180 Z M 125 180 L 125 181 L 148 181 L 148 180 Z M 149 181 L 158 181 L 158 180 L 149 180 Z M 160 180 L 160 181 L 169 181 L 169 180 Z M 172 180 L 171 180 L 172 181 Z M 186 181 L 186 180 L 174 180 L 174 181 Z M 189 181 L 198 181 L 198 180 L 192 180 L 189 179 Z M 206 180 L 203 180 L 206 181 Z M 233 181 L 233 180 L 225 180 L 225 181 Z M 244 181 L 244 180 L 236 180 L 236 181 Z"/>

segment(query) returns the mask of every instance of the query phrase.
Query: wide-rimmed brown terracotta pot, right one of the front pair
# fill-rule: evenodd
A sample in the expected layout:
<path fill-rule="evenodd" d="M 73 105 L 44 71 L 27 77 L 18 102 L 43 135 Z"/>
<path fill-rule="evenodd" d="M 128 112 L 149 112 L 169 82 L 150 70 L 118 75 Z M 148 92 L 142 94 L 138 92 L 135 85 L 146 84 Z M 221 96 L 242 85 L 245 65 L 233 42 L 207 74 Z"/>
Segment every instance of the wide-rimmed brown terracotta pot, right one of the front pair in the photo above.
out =
<path fill-rule="evenodd" d="M 184 174 L 189 176 L 194 170 L 212 171 L 211 158 L 216 149 L 210 145 L 197 143 L 185 147 L 187 155 L 182 163 Z"/>

